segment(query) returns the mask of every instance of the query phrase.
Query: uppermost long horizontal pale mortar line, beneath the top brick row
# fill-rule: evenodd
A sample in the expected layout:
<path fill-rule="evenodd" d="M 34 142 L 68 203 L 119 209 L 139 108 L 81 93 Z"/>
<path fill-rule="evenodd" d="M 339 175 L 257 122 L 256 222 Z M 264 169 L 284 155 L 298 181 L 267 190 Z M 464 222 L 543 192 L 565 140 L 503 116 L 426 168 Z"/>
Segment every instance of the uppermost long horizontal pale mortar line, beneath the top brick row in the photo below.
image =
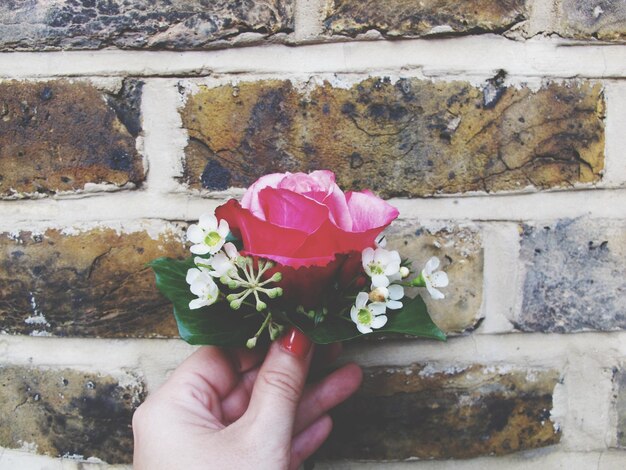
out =
<path fill-rule="evenodd" d="M 489 51 L 488 54 L 485 51 Z M 97 57 L 97 60 L 94 60 Z M 480 58 L 480 60 L 477 60 Z M 626 45 L 497 35 L 301 46 L 266 44 L 209 51 L 59 51 L 0 54 L 0 77 L 203 76 L 214 73 L 367 73 L 420 68 L 426 75 L 626 77 Z"/>

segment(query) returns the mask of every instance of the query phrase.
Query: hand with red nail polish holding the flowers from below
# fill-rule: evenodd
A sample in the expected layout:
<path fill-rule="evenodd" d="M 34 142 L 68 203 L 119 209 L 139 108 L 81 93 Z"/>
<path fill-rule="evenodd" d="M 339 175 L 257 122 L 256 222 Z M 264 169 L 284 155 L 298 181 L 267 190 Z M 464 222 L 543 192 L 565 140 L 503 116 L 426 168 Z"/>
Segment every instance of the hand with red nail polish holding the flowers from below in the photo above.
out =
<path fill-rule="evenodd" d="M 260 351 L 198 349 L 135 412 L 135 470 L 297 469 L 361 383 L 348 364 L 305 386 L 312 356 L 295 329 L 262 365 Z"/>

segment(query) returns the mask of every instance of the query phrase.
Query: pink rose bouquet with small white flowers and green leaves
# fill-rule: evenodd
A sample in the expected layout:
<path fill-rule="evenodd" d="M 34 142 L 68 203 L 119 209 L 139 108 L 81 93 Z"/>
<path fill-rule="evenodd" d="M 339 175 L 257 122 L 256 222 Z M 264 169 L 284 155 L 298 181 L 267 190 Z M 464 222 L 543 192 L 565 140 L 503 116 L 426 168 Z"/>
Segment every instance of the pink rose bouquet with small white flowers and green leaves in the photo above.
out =
<path fill-rule="evenodd" d="M 370 191 L 344 193 L 330 171 L 263 176 L 240 202 L 189 226 L 194 256 L 150 263 L 190 344 L 249 348 L 295 326 L 313 342 L 370 333 L 439 340 L 421 297 L 448 284 L 431 258 L 419 273 L 381 232 L 398 210 Z"/>

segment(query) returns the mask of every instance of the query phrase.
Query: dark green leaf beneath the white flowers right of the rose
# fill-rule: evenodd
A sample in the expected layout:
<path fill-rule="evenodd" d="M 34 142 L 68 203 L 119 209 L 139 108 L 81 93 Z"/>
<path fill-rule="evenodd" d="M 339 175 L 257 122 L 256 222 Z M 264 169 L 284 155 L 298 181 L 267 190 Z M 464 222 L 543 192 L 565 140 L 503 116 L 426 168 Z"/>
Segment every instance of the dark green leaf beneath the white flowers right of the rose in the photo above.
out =
<path fill-rule="evenodd" d="M 414 299 L 405 297 L 404 306 L 396 311 L 387 311 L 387 324 L 375 330 L 373 335 L 399 333 L 423 338 L 445 341 L 446 335 L 431 320 L 426 304 L 420 296 Z M 311 340 L 318 344 L 328 344 L 337 341 L 347 341 L 363 336 L 356 325 L 343 317 L 328 315 L 322 323 L 314 326 L 303 315 L 289 315 L 290 321 L 300 328 Z"/>

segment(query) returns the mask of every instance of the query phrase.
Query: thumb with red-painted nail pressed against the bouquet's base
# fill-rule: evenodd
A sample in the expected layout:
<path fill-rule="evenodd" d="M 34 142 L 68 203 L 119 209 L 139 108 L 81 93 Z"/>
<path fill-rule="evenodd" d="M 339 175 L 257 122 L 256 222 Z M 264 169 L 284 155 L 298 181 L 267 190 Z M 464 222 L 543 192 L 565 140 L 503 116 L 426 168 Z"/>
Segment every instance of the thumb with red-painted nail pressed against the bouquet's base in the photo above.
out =
<path fill-rule="evenodd" d="M 289 446 L 312 356 L 311 341 L 296 328 L 275 341 L 259 370 L 246 415 L 256 431 Z M 287 447 L 289 448 L 289 447 Z"/>

